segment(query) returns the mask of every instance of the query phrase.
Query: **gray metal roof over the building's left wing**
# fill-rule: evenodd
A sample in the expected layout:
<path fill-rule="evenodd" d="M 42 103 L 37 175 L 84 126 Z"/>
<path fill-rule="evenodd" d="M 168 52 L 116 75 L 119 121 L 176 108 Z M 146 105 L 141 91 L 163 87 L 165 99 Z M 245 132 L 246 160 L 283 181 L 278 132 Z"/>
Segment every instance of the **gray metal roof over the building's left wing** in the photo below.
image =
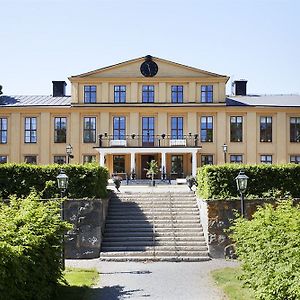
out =
<path fill-rule="evenodd" d="M 71 96 L 0 96 L 0 107 L 11 106 L 70 106 Z"/>

